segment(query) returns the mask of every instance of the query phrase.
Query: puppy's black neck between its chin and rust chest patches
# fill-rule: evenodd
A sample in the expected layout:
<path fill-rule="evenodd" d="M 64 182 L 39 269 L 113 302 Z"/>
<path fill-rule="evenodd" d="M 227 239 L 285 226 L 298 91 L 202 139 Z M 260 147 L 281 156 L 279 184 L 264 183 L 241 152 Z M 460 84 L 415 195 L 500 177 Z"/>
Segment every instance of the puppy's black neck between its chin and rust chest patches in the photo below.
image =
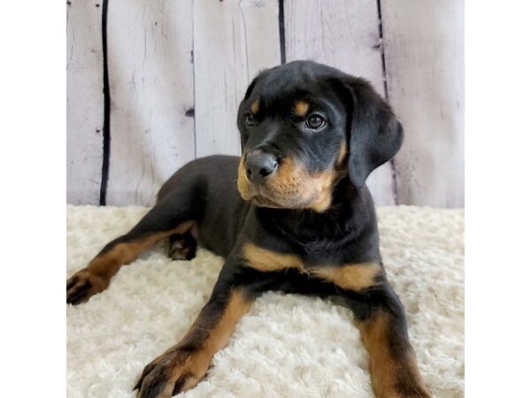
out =
<path fill-rule="evenodd" d="M 266 228 L 280 231 L 292 243 L 309 250 L 370 237 L 378 241 L 373 199 L 365 186 L 354 187 L 349 177 L 335 185 L 332 203 L 323 212 L 257 208 Z"/>

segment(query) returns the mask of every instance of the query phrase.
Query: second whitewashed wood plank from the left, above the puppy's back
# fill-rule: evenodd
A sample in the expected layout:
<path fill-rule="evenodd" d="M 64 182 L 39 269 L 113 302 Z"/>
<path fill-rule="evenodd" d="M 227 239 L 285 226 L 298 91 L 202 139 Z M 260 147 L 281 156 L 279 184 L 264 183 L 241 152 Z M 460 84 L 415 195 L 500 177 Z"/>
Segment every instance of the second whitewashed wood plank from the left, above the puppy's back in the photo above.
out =
<path fill-rule="evenodd" d="M 195 157 L 192 0 L 112 0 L 108 13 L 108 204 L 155 201 Z M 189 112 L 188 112 L 189 113 Z"/>

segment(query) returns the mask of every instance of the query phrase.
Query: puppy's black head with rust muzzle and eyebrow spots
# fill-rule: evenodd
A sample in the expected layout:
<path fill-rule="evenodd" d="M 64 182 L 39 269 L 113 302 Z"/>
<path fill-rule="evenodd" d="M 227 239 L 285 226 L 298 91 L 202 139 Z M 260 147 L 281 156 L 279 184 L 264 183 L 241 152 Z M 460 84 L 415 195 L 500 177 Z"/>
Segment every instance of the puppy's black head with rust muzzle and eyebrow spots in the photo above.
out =
<path fill-rule="evenodd" d="M 262 207 L 327 210 L 335 184 L 357 187 L 396 154 L 403 130 L 366 81 L 296 61 L 250 83 L 238 111 L 238 190 Z"/>

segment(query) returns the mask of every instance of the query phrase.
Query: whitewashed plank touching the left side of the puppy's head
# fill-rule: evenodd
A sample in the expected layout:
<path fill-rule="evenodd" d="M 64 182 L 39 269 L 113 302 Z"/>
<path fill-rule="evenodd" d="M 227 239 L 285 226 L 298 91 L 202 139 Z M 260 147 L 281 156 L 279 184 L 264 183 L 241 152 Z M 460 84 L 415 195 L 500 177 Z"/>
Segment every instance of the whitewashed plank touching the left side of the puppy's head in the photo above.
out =
<path fill-rule="evenodd" d="M 278 2 L 194 2 L 197 157 L 239 155 L 236 114 L 250 80 L 280 64 Z"/>

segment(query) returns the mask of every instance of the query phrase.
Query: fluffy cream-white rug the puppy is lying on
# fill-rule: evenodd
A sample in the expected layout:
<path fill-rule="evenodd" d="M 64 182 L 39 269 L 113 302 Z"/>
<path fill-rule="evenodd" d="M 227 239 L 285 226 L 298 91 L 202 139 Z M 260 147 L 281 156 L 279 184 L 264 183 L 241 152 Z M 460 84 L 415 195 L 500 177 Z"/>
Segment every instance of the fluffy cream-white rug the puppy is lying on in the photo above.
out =
<path fill-rule="evenodd" d="M 140 207 L 67 208 L 67 274 L 145 214 Z M 463 210 L 378 210 L 381 252 L 404 302 L 412 345 L 436 397 L 464 395 Z M 222 258 L 200 249 L 170 261 L 160 243 L 111 287 L 67 306 L 69 397 L 134 397 L 145 364 L 179 341 L 211 293 Z M 236 326 L 206 379 L 185 397 L 371 397 L 368 357 L 350 311 L 268 293 Z"/>

